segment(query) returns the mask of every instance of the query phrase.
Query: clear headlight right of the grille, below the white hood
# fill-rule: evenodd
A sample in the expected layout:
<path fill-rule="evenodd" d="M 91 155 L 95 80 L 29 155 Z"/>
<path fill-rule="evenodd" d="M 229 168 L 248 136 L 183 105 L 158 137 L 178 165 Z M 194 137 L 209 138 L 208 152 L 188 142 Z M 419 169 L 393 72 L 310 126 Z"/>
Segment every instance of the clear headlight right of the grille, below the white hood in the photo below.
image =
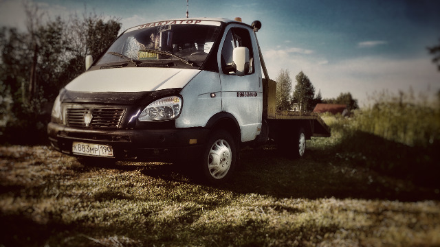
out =
<path fill-rule="evenodd" d="M 157 99 L 146 106 L 139 115 L 139 121 L 161 121 L 179 117 L 181 97 L 170 96 Z"/>

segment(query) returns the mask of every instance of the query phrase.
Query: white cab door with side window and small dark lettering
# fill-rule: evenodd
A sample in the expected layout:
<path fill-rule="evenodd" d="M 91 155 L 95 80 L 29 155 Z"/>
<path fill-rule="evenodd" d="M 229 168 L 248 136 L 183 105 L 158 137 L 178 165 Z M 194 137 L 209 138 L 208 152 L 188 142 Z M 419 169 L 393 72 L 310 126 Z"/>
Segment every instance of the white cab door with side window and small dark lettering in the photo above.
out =
<path fill-rule="evenodd" d="M 241 141 L 252 141 L 260 134 L 263 110 L 261 70 L 256 69 L 260 66 L 259 53 L 251 32 L 232 25 L 225 30 L 219 51 L 222 110 L 231 113 L 239 122 Z M 249 49 L 250 68 L 244 76 L 238 76 L 230 69 L 232 51 L 236 47 Z"/>

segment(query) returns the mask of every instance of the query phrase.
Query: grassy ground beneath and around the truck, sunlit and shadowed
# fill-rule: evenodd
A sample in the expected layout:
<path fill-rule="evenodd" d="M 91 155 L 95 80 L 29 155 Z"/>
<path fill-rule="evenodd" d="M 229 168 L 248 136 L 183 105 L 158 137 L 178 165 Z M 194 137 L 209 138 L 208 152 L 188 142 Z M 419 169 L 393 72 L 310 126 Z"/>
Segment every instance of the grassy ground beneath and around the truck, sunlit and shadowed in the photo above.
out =
<path fill-rule="evenodd" d="M 243 150 L 221 187 L 170 164 L 2 146 L 0 246 L 440 246 L 435 149 L 326 121 L 332 137 L 301 159 Z"/>

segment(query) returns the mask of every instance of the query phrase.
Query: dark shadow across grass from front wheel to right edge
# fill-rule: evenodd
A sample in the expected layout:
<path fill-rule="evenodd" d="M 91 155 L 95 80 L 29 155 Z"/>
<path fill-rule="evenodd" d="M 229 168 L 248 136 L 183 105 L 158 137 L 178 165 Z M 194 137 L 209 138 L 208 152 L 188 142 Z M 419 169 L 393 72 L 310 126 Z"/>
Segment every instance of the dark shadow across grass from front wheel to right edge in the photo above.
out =
<path fill-rule="evenodd" d="M 437 148 L 412 148 L 356 132 L 327 149 L 311 145 L 299 159 L 273 147 L 243 150 L 241 169 L 224 188 L 276 198 L 439 200 Z"/>

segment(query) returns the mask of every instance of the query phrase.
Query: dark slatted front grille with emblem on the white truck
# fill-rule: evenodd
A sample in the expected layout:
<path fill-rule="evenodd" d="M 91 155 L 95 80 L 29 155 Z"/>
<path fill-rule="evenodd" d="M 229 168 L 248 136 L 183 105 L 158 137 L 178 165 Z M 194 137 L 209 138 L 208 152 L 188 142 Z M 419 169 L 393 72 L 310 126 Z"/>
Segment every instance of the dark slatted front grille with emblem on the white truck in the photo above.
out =
<path fill-rule="evenodd" d="M 120 128 L 124 108 L 66 108 L 66 124 L 77 128 Z"/>

